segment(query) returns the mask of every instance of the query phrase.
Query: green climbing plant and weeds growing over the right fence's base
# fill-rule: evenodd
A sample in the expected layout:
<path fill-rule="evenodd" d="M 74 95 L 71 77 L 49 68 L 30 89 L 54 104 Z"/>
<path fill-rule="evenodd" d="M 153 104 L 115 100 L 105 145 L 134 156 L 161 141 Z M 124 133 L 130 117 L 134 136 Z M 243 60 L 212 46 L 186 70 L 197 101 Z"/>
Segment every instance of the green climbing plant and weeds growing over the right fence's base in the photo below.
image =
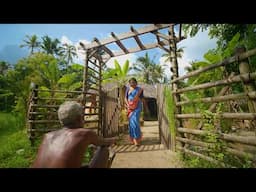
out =
<path fill-rule="evenodd" d="M 237 157 L 227 152 L 227 143 L 220 139 L 221 127 L 219 127 L 219 119 L 217 115 L 222 112 L 222 105 L 217 106 L 216 114 L 205 110 L 202 112 L 204 131 L 206 134 L 200 137 L 203 142 L 209 143 L 206 150 L 201 151 L 202 154 L 209 156 L 219 163 L 210 163 L 198 157 L 185 156 L 184 161 L 189 167 L 206 167 L 216 168 L 222 167 L 252 167 L 252 161 L 248 157 Z M 221 129 L 220 129 L 221 128 Z M 196 148 L 194 148 L 196 149 Z M 196 149 L 197 150 L 197 149 Z"/>

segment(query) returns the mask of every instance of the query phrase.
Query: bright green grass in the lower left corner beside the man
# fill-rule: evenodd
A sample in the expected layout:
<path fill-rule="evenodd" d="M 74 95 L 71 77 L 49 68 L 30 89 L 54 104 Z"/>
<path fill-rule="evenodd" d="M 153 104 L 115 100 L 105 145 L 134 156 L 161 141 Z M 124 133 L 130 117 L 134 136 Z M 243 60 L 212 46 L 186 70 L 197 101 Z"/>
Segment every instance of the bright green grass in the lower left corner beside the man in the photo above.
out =
<path fill-rule="evenodd" d="M 0 113 L 0 168 L 29 167 L 37 145 L 30 146 L 21 114 Z"/>

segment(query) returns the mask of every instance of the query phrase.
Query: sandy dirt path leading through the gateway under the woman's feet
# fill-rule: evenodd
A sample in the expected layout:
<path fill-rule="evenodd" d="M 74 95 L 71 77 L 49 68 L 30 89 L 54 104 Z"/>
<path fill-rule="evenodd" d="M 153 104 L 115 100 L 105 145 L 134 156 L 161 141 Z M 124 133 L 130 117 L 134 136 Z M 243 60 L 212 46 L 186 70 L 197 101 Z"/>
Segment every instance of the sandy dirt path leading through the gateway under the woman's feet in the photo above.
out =
<path fill-rule="evenodd" d="M 141 127 L 143 140 L 139 147 L 131 145 L 128 134 L 113 148 L 116 157 L 112 168 L 181 168 L 177 154 L 165 150 L 159 142 L 158 122 L 145 121 Z"/>

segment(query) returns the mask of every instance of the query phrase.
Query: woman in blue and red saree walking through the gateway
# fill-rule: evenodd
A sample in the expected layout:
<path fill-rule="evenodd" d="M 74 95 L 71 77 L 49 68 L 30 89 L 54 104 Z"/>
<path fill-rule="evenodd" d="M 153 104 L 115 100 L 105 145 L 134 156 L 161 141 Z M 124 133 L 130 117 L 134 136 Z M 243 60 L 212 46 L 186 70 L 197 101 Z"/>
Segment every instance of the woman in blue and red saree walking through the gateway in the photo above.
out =
<path fill-rule="evenodd" d="M 129 87 L 125 93 L 125 103 L 128 110 L 129 118 L 129 134 L 131 142 L 139 146 L 142 138 L 140 129 L 140 113 L 142 110 L 143 89 L 137 86 L 137 80 L 131 78 L 129 80 Z"/>

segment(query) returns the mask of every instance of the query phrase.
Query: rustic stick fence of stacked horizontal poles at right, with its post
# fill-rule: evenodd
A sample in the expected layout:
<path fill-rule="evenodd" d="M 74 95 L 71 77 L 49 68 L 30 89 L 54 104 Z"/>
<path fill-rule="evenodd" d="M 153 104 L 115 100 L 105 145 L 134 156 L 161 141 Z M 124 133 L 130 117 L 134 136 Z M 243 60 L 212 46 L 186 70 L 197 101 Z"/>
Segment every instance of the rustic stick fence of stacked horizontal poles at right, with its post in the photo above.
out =
<path fill-rule="evenodd" d="M 202 136 L 205 136 L 209 133 L 206 130 L 204 130 L 202 122 L 200 123 L 200 126 L 196 126 L 196 127 L 177 126 L 178 124 L 182 125 L 182 123 L 180 122 L 184 122 L 185 120 L 191 120 L 191 119 L 203 120 L 205 118 L 202 113 L 196 112 L 196 113 L 184 114 L 182 110 L 180 110 L 180 108 L 186 107 L 191 104 L 196 105 L 198 103 L 210 103 L 212 104 L 212 107 L 209 108 L 209 111 L 212 112 L 212 115 L 215 117 L 215 119 L 247 121 L 252 125 L 252 128 L 253 128 L 252 131 L 254 131 L 255 133 L 256 129 L 255 129 L 255 126 L 253 125 L 255 125 L 255 120 L 256 120 L 256 93 L 255 93 L 255 84 L 254 84 L 256 79 L 256 72 L 250 71 L 249 64 L 248 64 L 248 58 L 254 55 L 256 55 L 256 49 L 245 52 L 244 48 L 242 49 L 238 48 L 235 56 L 225 59 L 224 61 L 221 61 L 217 64 L 212 64 L 202 69 L 195 70 L 184 76 L 178 77 L 177 71 L 172 70 L 173 80 L 171 81 L 171 84 L 172 84 L 172 93 L 173 93 L 174 103 L 175 103 L 174 107 L 178 109 L 175 112 L 177 136 L 175 137 L 176 142 L 170 142 L 170 141 L 165 142 L 167 144 L 173 143 L 173 145 L 175 146 L 167 145 L 167 147 L 171 149 L 175 149 L 177 147 L 178 150 L 184 153 L 198 156 L 207 161 L 216 163 L 216 159 L 210 157 L 209 155 L 205 155 L 204 153 L 200 152 L 200 150 L 195 151 L 193 150 L 193 147 L 191 147 L 191 146 L 199 146 L 201 148 L 208 148 L 213 145 L 212 143 L 207 143 L 205 141 L 202 141 Z M 180 85 L 179 81 L 181 80 L 198 76 L 207 71 L 214 70 L 219 67 L 227 66 L 234 62 L 238 63 L 239 72 L 240 72 L 239 74 L 233 73 L 233 74 L 230 74 L 228 78 L 217 80 L 215 82 L 203 83 L 203 84 L 184 87 L 184 88 L 178 87 Z M 173 68 L 175 67 L 177 67 L 176 63 L 173 62 Z M 242 83 L 244 88 L 243 93 L 232 94 L 230 92 L 228 93 L 227 90 L 222 89 L 222 93 L 219 93 L 217 96 L 196 98 L 192 100 L 186 99 L 183 101 L 180 100 L 181 94 L 185 94 L 187 92 L 207 90 L 209 88 L 214 88 L 219 86 L 226 86 L 226 88 L 228 88 L 235 83 Z M 225 111 L 221 113 L 216 112 L 217 103 L 222 102 L 226 105 L 229 105 L 230 101 L 239 101 L 240 99 L 247 101 L 248 111 L 240 111 L 235 113 L 232 111 L 227 111 L 227 112 Z M 163 106 L 163 104 L 161 105 Z M 235 133 L 232 133 L 231 131 L 232 129 L 230 129 L 228 133 L 223 133 L 221 132 L 221 129 L 218 129 L 217 127 L 215 128 L 216 128 L 215 130 L 216 132 L 214 134 L 217 135 L 218 139 L 225 141 L 227 144 L 227 147 L 225 148 L 226 152 L 237 157 L 248 158 L 252 162 L 256 161 L 255 134 L 250 136 L 241 136 L 241 135 L 235 135 Z M 203 129 L 203 130 L 200 130 L 200 129 Z M 165 127 L 162 127 L 161 133 L 163 133 L 164 130 L 165 130 Z M 236 127 L 236 130 L 241 130 L 241 128 Z M 179 135 L 179 134 L 182 134 L 182 135 Z M 169 139 L 166 134 L 164 138 L 166 140 Z M 241 148 L 241 145 L 243 146 L 243 148 Z M 248 148 L 254 149 L 254 150 L 246 150 Z M 223 163 L 220 163 L 220 165 L 225 166 Z"/>

